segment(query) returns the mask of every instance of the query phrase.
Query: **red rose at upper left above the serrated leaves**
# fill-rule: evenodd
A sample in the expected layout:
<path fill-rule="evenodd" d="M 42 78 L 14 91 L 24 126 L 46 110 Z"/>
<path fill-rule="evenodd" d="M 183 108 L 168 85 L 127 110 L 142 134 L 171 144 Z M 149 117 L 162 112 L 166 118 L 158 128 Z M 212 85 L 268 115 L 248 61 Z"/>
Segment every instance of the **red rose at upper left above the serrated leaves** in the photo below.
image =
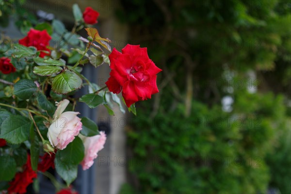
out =
<path fill-rule="evenodd" d="M 24 45 L 26 47 L 35 47 L 37 50 L 46 50 L 50 53 L 50 50 L 47 48 L 49 46 L 49 41 L 51 37 L 49 36 L 47 30 L 38 31 L 31 29 L 27 36 L 23 39 L 19 40 L 20 45 Z M 40 52 L 40 57 L 44 57 L 49 55 L 47 52 Z"/>

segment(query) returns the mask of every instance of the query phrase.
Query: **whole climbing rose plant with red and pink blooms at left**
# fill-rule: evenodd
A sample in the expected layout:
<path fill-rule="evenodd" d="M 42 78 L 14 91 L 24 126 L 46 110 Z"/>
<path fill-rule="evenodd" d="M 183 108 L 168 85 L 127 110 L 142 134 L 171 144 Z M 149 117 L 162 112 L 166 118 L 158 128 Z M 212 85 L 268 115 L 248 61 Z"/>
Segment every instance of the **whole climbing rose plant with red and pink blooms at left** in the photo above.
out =
<path fill-rule="evenodd" d="M 56 193 L 77 193 L 70 184 L 77 178 L 78 165 L 83 170 L 93 165 L 106 134 L 94 121 L 75 111 L 76 103 L 90 108 L 105 106 L 110 115 L 114 114 L 115 103 L 121 112 L 125 113 L 127 106 L 136 114 L 136 102 L 159 92 L 156 80 L 162 70 L 150 60 L 146 48 L 128 44 L 121 52 L 115 48 L 112 51 L 111 41 L 90 26 L 97 23 L 97 11 L 87 7 L 82 13 L 74 4 L 73 13 L 71 32 L 55 19 L 35 25 L 18 41 L 7 36 L 0 39 L 3 193 L 26 193 L 39 174 L 52 179 Z M 77 34 L 82 29 L 87 37 Z M 96 68 L 110 66 L 103 87 L 82 74 L 83 66 L 90 64 Z M 74 94 L 84 86 L 88 94 L 76 98 Z M 66 185 L 57 182 L 49 169 L 55 169 Z"/>

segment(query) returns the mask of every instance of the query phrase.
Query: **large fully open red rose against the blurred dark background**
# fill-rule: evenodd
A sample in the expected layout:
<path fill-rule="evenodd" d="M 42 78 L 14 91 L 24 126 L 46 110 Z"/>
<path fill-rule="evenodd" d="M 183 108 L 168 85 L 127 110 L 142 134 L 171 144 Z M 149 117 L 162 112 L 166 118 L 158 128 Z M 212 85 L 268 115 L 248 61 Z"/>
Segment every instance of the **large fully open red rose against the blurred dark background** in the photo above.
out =
<path fill-rule="evenodd" d="M 146 48 L 128 44 L 122 53 L 114 48 L 109 59 L 112 70 L 106 85 L 114 94 L 122 91 L 128 107 L 159 92 L 156 74 L 162 69 L 148 58 Z"/>

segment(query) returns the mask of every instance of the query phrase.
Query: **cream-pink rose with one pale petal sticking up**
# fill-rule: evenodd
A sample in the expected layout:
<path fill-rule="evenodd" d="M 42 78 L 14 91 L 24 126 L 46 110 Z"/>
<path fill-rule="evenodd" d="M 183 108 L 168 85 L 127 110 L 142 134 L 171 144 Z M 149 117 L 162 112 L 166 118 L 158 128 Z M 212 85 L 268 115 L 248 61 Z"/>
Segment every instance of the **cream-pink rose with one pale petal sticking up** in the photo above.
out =
<path fill-rule="evenodd" d="M 65 149 L 82 129 L 81 119 L 77 116 L 78 112 L 68 111 L 63 113 L 68 104 L 69 100 L 67 99 L 57 104 L 58 108 L 53 115 L 54 121 L 49 126 L 49 142 L 58 149 Z"/>

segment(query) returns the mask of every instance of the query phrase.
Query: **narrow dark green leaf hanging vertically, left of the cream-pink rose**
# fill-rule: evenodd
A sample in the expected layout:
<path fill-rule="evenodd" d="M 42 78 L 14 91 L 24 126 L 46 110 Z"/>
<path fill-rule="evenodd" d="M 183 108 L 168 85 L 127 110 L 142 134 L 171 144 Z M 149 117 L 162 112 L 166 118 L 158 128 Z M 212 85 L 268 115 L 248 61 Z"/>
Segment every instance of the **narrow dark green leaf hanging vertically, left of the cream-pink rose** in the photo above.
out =
<path fill-rule="evenodd" d="M 30 140 L 31 140 L 31 147 L 30 147 L 30 154 L 31 154 L 31 165 L 32 170 L 37 170 L 37 164 L 38 164 L 38 157 L 39 157 L 39 143 L 37 136 L 34 132 L 34 125 L 32 123 L 30 128 Z"/>

